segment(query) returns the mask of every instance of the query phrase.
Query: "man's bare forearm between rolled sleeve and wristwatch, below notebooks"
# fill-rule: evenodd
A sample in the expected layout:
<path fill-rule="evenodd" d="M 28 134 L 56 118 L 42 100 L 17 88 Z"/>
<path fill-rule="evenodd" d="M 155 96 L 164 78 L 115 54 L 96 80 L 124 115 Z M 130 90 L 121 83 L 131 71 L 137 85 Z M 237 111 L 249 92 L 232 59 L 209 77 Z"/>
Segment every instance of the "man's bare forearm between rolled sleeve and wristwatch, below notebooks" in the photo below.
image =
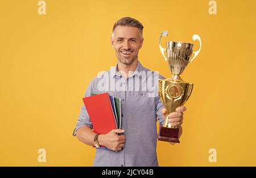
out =
<path fill-rule="evenodd" d="M 85 143 L 89 146 L 94 146 L 93 140 L 96 133 L 88 126 L 82 126 L 77 130 L 76 137 L 80 142 Z"/>

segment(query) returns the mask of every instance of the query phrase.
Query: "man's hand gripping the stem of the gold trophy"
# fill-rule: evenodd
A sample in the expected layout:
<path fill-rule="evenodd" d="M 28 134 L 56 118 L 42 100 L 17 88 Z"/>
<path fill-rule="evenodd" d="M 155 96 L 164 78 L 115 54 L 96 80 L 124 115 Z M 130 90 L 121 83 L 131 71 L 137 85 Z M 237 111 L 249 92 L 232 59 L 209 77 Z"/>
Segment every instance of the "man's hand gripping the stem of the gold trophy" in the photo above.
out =
<path fill-rule="evenodd" d="M 187 107 L 179 106 L 175 110 L 168 115 L 168 122 L 171 123 L 171 126 L 180 126 L 183 123 L 183 112 L 187 110 Z M 163 108 L 161 111 L 163 118 L 166 118 L 167 110 Z"/>

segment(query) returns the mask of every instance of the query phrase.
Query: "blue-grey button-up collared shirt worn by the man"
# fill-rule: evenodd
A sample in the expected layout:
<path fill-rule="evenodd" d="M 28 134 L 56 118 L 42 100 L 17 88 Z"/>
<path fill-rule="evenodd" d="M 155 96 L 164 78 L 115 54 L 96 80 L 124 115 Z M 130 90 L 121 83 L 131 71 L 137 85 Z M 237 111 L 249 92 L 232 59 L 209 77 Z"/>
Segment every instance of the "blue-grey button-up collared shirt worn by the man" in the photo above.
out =
<path fill-rule="evenodd" d="M 158 96 L 156 72 L 138 63 L 137 69 L 125 79 L 117 70 L 117 65 L 99 74 L 90 82 L 85 97 L 94 93 L 108 92 L 122 101 L 122 129 L 125 130 L 123 150 L 114 152 L 96 149 L 94 166 L 158 166 L 156 156 L 156 121 L 162 126 L 162 101 Z M 100 110 L 99 110 L 100 112 Z M 81 107 L 73 136 L 82 126 L 93 129 L 85 106 Z"/>

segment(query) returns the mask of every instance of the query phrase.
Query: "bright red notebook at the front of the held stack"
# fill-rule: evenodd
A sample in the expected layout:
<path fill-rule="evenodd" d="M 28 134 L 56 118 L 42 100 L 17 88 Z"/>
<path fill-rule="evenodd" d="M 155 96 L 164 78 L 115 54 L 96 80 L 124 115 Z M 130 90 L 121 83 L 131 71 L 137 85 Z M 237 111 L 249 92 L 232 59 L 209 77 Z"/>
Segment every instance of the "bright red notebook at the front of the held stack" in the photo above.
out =
<path fill-rule="evenodd" d="M 115 118 L 109 98 L 109 93 L 96 94 L 82 98 L 92 121 L 93 130 L 98 134 L 106 134 L 116 129 Z"/>

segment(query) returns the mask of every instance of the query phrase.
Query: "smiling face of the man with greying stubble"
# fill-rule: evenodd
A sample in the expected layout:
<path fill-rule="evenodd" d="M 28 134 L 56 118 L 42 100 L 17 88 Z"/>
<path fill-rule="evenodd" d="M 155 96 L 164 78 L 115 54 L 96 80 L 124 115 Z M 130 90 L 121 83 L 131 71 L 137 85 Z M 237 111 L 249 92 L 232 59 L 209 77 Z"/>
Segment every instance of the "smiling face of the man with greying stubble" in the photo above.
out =
<path fill-rule="evenodd" d="M 125 65 L 130 65 L 134 60 L 138 59 L 138 52 L 142 47 L 143 38 L 137 27 L 117 26 L 111 43 L 118 60 Z"/>

